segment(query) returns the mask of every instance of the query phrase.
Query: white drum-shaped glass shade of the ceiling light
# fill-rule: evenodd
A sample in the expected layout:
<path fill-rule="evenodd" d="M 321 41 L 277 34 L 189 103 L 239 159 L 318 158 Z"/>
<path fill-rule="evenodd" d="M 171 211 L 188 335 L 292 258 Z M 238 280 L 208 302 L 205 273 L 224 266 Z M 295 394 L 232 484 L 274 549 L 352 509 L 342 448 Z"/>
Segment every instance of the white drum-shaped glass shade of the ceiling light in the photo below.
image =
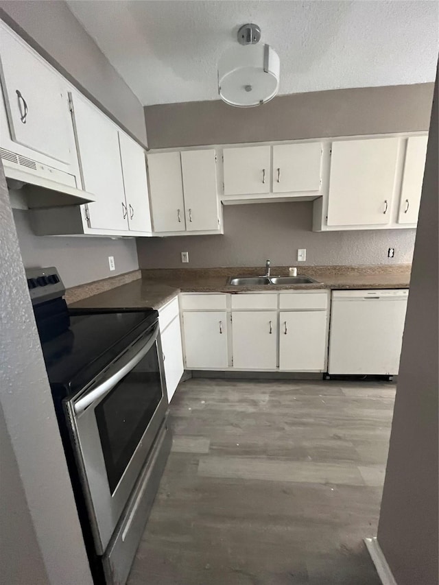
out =
<path fill-rule="evenodd" d="M 269 102 L 279 91 L 279 56 L 269 45 L 228 49 L 218 63 L 218 93 L 226 104 L 249 108 Z"/>

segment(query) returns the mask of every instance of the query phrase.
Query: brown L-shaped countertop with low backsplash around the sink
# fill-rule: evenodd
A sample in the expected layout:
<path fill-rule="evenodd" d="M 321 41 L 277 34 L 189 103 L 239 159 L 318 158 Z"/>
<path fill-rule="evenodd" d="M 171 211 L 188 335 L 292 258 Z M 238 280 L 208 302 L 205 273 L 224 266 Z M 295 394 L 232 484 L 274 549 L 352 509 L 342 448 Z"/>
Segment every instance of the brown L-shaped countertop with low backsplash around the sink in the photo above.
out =
<path fill-rule="evenodd" d="M 272 275 L 287 275 L 287 267 L 273 267 Z M 317 283 L 309 285 L 256 285 L 236 287 L 228 285 L 230 276 L 255 276 L 263 274 L 263 268 L 204 268 L 142 270 L 137 278 L 117 285 L 104 292 L 97 291 L 97 283 L 75 287 L 78 295 L 69 294 L 67 302 L 80 308 L 132 309 L 152 307 L 160 309 L 182 292 L 222 292 L 239 294 L 249 291 L 309 290 L 309 289 L 400 289 L 408 288 L 410 265 L 379 266 L 305 266 L 298 274 L 310 276 Z M 133 275 L 134 276 L 134 275 Z M 102 281 L 99 281 L 102 282 Z M 116 283 L 115 283 L 116 284 Z M 102 289 L 102 287 L 101 287 Z M 73 291 L 73 289 L 71 289 Z"/>

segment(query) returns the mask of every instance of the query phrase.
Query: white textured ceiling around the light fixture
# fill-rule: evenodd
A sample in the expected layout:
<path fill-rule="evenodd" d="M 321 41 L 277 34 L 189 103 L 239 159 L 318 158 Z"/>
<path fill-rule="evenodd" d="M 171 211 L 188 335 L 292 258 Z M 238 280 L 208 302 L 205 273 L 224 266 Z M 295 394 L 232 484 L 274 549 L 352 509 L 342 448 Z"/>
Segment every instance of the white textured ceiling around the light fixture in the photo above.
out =
<path fill-rule="evenodd" d="M 68 0 L 144 105 L 218 99 L 246 22 L 281 57 L 280 93 L 434 81 L 436 0 Z"/>

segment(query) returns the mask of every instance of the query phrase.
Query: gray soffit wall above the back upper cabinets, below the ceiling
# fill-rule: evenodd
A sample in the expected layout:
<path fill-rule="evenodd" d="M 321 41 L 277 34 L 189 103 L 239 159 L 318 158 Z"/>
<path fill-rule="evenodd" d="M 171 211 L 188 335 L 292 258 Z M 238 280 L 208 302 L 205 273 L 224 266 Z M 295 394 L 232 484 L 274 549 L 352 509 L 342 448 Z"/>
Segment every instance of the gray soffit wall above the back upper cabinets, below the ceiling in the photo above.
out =
<path fill-rule="evenodd" d="M 224 102 L 145 107 L 150 148 L 427 130 L 434 84 L 275 97 L 257 108 Z"/>

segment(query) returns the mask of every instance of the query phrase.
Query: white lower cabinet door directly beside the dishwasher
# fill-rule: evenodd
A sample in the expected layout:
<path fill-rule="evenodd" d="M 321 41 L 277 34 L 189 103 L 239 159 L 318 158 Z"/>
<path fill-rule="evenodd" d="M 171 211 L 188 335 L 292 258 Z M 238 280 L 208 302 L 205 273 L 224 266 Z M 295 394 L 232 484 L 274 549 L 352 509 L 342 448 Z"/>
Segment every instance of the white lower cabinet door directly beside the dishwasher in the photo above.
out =
<path fill-rule="evenodd" d="M 323 371 L 327 355 L 327 312 L 281 312 L 279 369 Z"/>

